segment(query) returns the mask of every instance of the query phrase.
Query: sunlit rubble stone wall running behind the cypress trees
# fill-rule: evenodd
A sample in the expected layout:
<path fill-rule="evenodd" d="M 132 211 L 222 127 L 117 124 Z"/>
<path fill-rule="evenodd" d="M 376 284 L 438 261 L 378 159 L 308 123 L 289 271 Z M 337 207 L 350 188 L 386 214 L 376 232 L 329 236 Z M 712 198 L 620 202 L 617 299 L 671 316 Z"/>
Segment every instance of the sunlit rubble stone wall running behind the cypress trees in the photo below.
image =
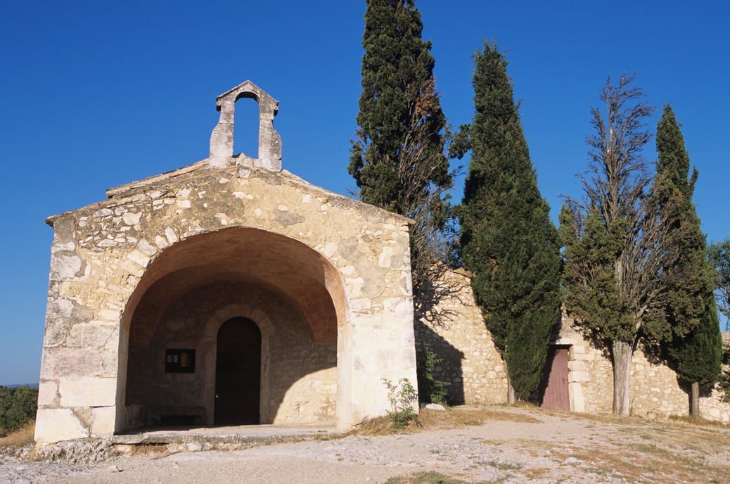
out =
<path fill-rule="evenodd" d="M 444 362 L 434 375 L 450 383 L 449 399 L 455 404 L 502 404 L 507 402 L 504 361 L 485 328 L 475 304 L 468 274 L 445 273 L 442 285 L 451 293 L 434 311 L 415 321 L 418 344 L 426 342 Z M 439 316 L 440 315 L 440 316 Z M 730 335 L 723 334 L 726 345 Z M 610 358 L 583 337 L 573 321 L 563 315 L 553 345 L 569 349 L 568 391 L 571 410 L 610 413 L 613 370 Z M 631 363 L 631 413 L 647 418 L 688 415 L 688 388 L 662 361 L 639 348 Z M 700 399 L 703 418 L 730 422 L 730 404 L 721 402 L 717 390 Z"/>

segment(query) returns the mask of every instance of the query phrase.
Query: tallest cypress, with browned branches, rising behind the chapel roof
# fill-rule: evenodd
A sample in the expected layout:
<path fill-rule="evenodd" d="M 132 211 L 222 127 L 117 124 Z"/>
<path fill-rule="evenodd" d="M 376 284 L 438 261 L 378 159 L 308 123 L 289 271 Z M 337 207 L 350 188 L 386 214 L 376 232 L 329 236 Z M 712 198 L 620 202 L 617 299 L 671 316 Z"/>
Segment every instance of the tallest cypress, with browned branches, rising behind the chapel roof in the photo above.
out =
<path fill-rule="evenodd" d="M 416 289 L 433 282 L 448 252 L 445 191 L 449 139 L 434 80 L 431 42 L 415 0 L 368 0 L 362 94 L 350 166 L 360 199 L 415 220 L 411 264 Z"/>

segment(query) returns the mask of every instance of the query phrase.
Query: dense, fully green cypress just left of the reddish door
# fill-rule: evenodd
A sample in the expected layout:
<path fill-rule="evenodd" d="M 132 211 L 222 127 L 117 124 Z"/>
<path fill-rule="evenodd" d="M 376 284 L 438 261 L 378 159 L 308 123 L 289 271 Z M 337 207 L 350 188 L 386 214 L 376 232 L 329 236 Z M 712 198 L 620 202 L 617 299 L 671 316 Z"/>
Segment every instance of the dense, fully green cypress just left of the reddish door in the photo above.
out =
<path fill-rule="evenodd" d="M 507 61 L 496 45 L 485 42 L 475 54 L 472 85 L 475 115 L 455 142 L 472 150 L 459 212 L 461 261 L 475 274 L 472 288 L 515 396 L 528 399 L 559 313 L 558 232 L 537 188 Z"/>

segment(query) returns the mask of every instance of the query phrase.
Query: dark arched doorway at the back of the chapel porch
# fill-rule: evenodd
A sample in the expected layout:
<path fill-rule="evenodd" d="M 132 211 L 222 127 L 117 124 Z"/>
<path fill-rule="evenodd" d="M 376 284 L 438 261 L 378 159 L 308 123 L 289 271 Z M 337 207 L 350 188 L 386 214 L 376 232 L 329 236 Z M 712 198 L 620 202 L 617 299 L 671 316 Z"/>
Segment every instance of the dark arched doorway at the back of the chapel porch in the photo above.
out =
<path fill-rule="evenodd" d="M 261 331 L 252 320 L 231 318 L 218 330 L 215 423 L 259 423 Z"/>

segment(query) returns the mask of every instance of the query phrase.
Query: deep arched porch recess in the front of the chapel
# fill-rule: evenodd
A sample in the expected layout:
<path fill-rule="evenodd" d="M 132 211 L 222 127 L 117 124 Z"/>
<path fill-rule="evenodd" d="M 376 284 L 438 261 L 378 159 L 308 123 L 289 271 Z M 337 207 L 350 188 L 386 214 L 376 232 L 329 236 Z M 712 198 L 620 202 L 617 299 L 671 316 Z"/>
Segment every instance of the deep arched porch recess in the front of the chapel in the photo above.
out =
<path fill-rule="evenodd" d="M 301 242 L 253 228 L 177 242 L 148 266 L 123 313 L 117 431 L 334 422 L 345 311 L 339 272 Z M 250 320 L 260 334 L 258 416 L 250 392 L 245 400 L 231 391 L 239 412 L 216 402 L 225 385 L 218 381 L 221 351 L 250 350 L 241 335 L 221 342 L 231 318 Z"/>

